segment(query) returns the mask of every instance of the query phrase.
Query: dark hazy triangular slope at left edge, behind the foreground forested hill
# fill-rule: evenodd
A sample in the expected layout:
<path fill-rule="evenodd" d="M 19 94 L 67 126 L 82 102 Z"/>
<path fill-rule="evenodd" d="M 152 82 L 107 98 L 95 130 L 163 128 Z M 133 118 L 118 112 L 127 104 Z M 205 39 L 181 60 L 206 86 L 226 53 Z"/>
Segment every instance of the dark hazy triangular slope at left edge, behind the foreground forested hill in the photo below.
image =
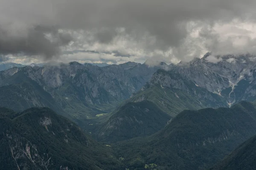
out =
<path fill-rule="evenodd" d="M 8 79 L 5 83 L 5 86 L 0 87 L 0 101 L 3 107 L 12 108 L 14 111 L 35 106 L 49 107 L 59 113 L 64 112 L 49 93 L 22 72 L 14 74 L 12 79 Z"/>

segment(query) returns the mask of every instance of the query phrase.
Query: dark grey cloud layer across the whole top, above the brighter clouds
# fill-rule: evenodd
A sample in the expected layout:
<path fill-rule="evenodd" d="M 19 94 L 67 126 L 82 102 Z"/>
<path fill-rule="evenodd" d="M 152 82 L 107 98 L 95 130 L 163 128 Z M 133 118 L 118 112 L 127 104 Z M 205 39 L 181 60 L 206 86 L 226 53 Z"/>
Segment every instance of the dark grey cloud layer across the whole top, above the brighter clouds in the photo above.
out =
<path fill-rule="evenodd" d="M 190 31 L 187 23 L 211 28 L 216 22 L 227 23 L 233 19 L 254 22 L 255 8 L 255 0 L 2 0 L 0 51 L 55 56 L 71 37 L 52 31 L 52 26 L 93 31 L 94 40 L 105 44 L 111 43 L 119 34 L 116 28 L 122 27 L 135 42 L 145 38 L 141 33 L 154 37 L 155 44 L 149 45 L 148 50 L 172 47 L 181 51 L 179 48 Z M 5 24 L 10 22 L 25 25 L 27 35 L 8 33 Z M 42 28 L 35 29 L 35 25 Z M 49 32 L 54 42 L 45 37 Z"/>

